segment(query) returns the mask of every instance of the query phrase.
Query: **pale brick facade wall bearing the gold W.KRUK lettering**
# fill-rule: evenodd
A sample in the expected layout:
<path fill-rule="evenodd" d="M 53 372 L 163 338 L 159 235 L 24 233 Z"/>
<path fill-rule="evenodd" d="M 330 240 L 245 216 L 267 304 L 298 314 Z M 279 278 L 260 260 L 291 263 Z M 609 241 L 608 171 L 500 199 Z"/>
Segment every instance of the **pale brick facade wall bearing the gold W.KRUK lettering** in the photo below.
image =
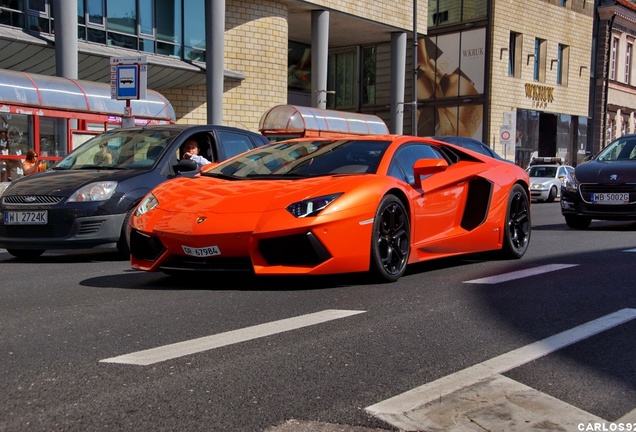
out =
<path fill-rule="evenodd" d="M 544 0 L 493 1 L 491 33 L 489 141 L 502 152 L 499 128 L 504 112 L 516 109 L 589 116 L 590 67 L 594 2 L 568 1 L 561 7 Z M 520 77 L 508 75 L 510 32 L 523 35 Z M 547 41 L 545 82 L 533 79 L 535 38 Z M 569 46 L 567 85 L 557 85 L 558 45 Z M 544 103 L 526 96 L 526 84 L 552 88 L 554 100 Z"/>

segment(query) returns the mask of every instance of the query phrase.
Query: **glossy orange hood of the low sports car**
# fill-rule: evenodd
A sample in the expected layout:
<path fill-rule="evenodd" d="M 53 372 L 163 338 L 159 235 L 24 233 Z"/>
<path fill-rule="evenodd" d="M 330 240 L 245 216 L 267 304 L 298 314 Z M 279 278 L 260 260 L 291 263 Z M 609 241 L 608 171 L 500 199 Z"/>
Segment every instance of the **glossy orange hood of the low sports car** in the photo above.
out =
<path fill-rule="evenodd" d="M 364 177 L 362 179 L 361 177 Z M 247 214 L 279 210 L 297 201 L 338 192 L 356 197 L 356 204 L 373 201 L 381 190 L 378 176 L 316 177 L 303 180 L 241 180 L 181 178 L 163 183 L 153 193 L 169 213 Z"/>

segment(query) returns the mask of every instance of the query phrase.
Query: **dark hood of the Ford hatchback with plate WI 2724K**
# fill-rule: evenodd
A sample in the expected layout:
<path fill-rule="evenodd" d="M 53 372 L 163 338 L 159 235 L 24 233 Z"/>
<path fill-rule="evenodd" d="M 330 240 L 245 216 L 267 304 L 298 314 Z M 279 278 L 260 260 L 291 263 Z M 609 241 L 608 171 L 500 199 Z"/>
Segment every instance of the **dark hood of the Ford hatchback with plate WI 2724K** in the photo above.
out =
<path fill-rule="evenodd" d="M 122 181 L 147 171 L 49 170 L 12 182 L 7 195 L 71 196 L 77 189 L 97 181 Z"/>

